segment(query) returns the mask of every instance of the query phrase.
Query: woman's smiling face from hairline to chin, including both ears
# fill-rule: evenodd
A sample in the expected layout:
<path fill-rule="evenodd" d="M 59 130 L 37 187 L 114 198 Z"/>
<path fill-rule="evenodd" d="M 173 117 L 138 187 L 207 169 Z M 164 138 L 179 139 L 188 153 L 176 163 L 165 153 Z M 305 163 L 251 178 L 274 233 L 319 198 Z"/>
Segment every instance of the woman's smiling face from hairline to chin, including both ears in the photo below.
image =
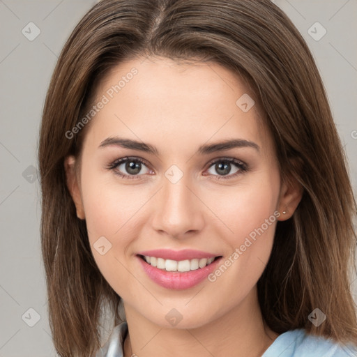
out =
<path fill-rule="evenodd" d="M 252 299 L 298 195 L 248 87 L 215 63 L 151 58 L 121 63 L 97 93 L 80 174 L 72 157 L 66 172 L 107 282 L 160 326 L 173 308 L 197 327 Z"/>

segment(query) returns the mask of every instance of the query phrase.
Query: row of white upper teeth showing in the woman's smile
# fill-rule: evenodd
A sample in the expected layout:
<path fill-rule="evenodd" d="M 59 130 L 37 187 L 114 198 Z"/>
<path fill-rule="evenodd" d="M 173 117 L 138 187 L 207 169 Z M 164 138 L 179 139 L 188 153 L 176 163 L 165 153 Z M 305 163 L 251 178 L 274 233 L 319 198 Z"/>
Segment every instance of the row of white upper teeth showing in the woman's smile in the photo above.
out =
<path fill-rule="evenodd" d="M 166 271 L 195 271 L 198 268 L 204 268 L 206 265 L 211 264 L 215 259 L 211 258 L 202 258 L 202 259 L 185 259 L 181 261 L 176 261 L 172 259 L 162 259 L 156 257 L 149 257 L 144 255 L 144 259 L 146 263 L 151 264 L 151 266 L 155 266 L 156 268 L 162 269 Z"/>

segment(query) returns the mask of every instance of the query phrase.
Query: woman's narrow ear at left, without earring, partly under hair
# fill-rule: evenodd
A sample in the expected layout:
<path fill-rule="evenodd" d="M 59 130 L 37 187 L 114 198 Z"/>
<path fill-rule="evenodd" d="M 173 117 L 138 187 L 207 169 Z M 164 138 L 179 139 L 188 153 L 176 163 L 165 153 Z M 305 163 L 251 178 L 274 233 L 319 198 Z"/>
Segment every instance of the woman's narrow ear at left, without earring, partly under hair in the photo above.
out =
<path fill-rule="evenodd" d="M 84 208 L 82 202 L 82 195 L 80 191 L 79 179 L 75 170 L 75 157 L 73 155 L 67 156 L 64 160 L 64 169 L 66 171 L 66 183 L 75 208 L 77 209 L 77 217 L 84 220 Z"/>

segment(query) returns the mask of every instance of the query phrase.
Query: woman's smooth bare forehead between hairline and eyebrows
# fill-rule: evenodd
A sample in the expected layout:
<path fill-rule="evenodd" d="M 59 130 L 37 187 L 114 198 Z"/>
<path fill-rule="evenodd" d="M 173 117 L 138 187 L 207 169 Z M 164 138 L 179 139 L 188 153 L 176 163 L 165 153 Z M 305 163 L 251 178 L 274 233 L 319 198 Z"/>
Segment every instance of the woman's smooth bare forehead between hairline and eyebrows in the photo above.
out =
<path fill-rule="evenodd" d="M 100 100 L 105 105 L 91 123 L 91 142 L 120 135 L 143 142 L 160 138 L 165 150 L 222 138 L 269 144 L 266 130 L 261 130 L 257 100 L 252 104 L 254 93 L 218 63 L 162 57 L 125 61 L 101 80 L 95 103 Z M 242 110 L 242 102 L 251 109 Z"/>

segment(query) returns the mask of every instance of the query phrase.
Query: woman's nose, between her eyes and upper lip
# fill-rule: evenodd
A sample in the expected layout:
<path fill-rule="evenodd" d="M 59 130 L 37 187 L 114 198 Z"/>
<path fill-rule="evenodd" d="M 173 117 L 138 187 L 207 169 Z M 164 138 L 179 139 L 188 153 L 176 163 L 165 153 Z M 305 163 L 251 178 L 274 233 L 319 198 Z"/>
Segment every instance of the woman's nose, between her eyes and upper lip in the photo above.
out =
<path fill-rule="evenodd" d="M 153 202 L 153 229 L 171 238 L 186 238 L 204 227 L 204 204 L 186 176 L 176 183 L 163 178 Z"/>

